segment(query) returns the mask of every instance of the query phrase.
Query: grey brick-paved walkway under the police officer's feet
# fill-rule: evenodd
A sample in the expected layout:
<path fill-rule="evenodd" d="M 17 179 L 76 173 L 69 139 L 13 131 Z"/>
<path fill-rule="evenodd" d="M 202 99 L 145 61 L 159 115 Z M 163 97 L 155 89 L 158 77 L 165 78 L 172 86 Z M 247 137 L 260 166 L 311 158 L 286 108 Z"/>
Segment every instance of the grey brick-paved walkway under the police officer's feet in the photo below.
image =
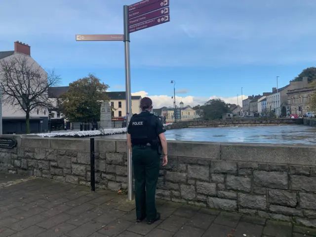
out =
<path fill-rule="evenodd" d="M 158 200 L 162 220 L 135 223 L 126 196 L 0 173 L 0 237 L 311 237 L 315 229 Z"/>

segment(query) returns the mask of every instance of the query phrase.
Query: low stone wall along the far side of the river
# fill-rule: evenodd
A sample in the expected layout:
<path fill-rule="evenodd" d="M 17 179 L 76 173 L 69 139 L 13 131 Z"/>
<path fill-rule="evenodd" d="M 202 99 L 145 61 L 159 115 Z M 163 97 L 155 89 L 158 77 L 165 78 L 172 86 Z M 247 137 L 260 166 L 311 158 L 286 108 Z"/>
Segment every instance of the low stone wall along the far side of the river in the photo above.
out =
<path fill-rule="evenodd" d="M 220 127 L 234 125 L 276 125 L 276 124 L 303 124 L 303 118 L 234 118 L 218 120 L 180 121 L 167 126 L 167 129 L 187 127 Z"/>

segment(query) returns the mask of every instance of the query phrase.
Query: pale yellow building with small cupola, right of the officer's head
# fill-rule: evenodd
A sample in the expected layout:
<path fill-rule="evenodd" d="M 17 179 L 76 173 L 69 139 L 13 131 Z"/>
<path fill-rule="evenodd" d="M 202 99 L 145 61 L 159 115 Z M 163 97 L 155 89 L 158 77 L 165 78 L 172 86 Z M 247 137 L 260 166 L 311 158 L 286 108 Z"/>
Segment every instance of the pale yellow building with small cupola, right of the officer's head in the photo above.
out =
<path fill-rule="evenodd" d="M 174 121 L 174 108 L 162 107 L 158 110 L 161 110 L 161 116 L 164 116 L 167 122 Z M 177 110 L 180 110 L 180 118 L 177 118 L 177 120 L 189 121 L 199 118 L 199 115 L 197 115 L 197 111 L 194 110 L 190 105 L 184 106 L 183 102 L 180 102 L 179 107 L 177 107 Z"/>

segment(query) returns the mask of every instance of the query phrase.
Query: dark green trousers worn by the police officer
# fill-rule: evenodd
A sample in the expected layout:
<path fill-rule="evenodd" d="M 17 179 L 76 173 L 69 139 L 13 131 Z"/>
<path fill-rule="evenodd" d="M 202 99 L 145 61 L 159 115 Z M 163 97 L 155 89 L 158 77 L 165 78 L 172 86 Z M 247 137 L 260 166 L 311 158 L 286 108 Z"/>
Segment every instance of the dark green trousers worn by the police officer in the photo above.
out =
<path fill-rule="evenodd" d="M 133 146 L 136 218 L 154 220 L 157 216 L 156 187 L 160 156 L 150 146 Z"/>

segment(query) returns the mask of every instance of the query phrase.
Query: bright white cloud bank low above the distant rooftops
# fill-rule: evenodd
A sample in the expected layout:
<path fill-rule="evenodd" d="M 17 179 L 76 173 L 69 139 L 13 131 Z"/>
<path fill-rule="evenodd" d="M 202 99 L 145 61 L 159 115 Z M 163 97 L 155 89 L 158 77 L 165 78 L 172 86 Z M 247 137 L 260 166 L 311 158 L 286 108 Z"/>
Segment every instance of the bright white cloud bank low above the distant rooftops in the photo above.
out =
<path fill-rule="evenodd" d="M 153 100 L 154 108 L 158 109 L 163 106 L 171 106 L 173 107 L 173 99 L 171 96 L 167 95 L 148 95 L 148 92 L 146 91 L 138 91 L 132 93 L 132 95 L 140 95 L 143 97 L 150 97 Z M 242 96 L 243 99 L 246 98 L 245 95 Z M 190 106 L 195 106 L 195 105 L 203 105 L 205 102 L 211 99 L 221 99 L 224 100 L 226 103 L 230 104 L 237 104 L 237 96 L 235 97 L 222 97 L 222 96 L 211 96 L 211 97 L 198 97 L 198 96 L 176 96 L 176 104 L 179 105 L 179 103 L 182 101 L 184 103 L 184 106 L 190 105 Z M 241 95 L 238 96 L 238 104 L 241 105 Z"/>

